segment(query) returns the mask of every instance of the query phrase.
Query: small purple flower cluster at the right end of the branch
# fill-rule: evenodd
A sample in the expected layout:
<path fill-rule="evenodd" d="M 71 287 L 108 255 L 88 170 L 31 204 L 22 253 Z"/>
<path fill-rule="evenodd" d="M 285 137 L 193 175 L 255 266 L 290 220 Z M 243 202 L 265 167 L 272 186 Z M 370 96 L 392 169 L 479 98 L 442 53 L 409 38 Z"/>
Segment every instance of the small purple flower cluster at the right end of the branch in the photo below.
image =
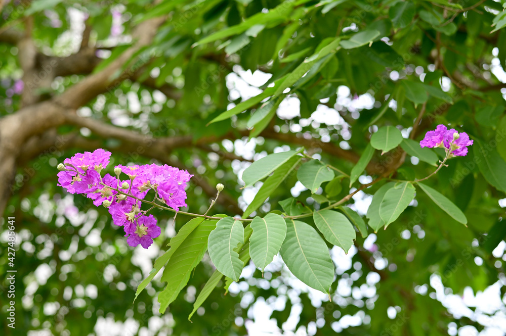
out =
<path fill-rule="evenodd" d="M 421 147 L 441 147 L 449 152 L 449 157 L 466 156 L 468 146 L 473 145 L 473 140 L 465 132 L 458 133 L 456 130 L 447 129 L 445 125 L 438 125 L 436 130 L 429 131 L 420 141 Z"/>

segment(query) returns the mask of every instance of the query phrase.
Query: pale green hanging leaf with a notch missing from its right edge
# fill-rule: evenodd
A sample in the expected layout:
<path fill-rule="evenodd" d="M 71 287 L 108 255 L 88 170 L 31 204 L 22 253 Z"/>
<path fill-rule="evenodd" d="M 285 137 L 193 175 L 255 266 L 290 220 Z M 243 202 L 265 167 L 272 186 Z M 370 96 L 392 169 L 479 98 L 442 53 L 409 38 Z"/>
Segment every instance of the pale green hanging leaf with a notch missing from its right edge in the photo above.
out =
<path fill-rule="evenodd" d="M 239 244 L 244 244 L 244 227 L 232 217 L 225 217 L 216 223 L 216 228 L 209 234 L 209 257 L 216 268 L 225 276 L 239 280 L 242 261 L 234 251 Z"/>

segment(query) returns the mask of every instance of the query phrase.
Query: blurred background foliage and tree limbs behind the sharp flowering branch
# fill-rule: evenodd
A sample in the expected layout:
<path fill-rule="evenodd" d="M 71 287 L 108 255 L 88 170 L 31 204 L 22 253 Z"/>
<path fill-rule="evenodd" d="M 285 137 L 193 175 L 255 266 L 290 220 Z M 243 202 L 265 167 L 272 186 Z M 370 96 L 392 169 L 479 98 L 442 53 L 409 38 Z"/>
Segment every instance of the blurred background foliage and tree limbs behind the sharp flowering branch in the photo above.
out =
<path fill-rule="evenodd" d="M 502 177 L 490 182 L 473 151 L 452 159 L 427 181 L 466 213 L 468 227 L 426 195 L 416 195 L 388 230 L 357 235 L 348 255 L 332 249 L 337 266 L 332 303 L 296 281 L 276 259 L 263 277 L 254 266 L 246 267 L 227 295 L 220 283 L 193 323 L 188 314 L 213 272 L 207 256 L 165 314 L 158 313 L 156 302 L 163 287 L 159 277 L 133 303 L 155 258 L 190 218 L 178 215 L 174 221 L 170 213 L 155 212 L 162 234 L 149 250 L 132 249 L 107 209 L 65 194 L 56 178 L 56 165 L 65 158 L 105 148 L 113 153 L 106 171 L 111 174 L 113 165 L 130 162 L 188 169 L 195 175 L 187 190 L 193 212 L 205 212 L 214 185 L 223 183 L 226 189 L 214 210 L 236 215 L 261 185 L 241 189 L 240 175 L 250 162 L 304 146 L 314 158 L 349 173 L 370 134 L 384 125 L 397 126 L 404 137 L 415 132 L 419 141 L 437 124 L 449 124 L 488 145 L 501 169 L 506 160 L 503 3 L 1 4 L 0 125 L 16 115 L 23 117 L 13 132 L 36 124 L 13 142 L 19 150 L 15 173 L 2 172 L 9 188 L 0 235 L 2 274 L 8 269 L 8 216 L 16 218 L 18 249 L 16 329 L 2 318 L 3 334 L 506 332 L 506 226 L 501 222 L 506 184 Z M 336 37 L 346 41 L 341 48 L 300 67 Z M 246 112 L 206 126 L 287 75 L 293 77 L 290 89 L 272 110 L 263 111 L 266 117 L 255 128 L 247 124 L 262 99 Z M 48 107 L 61 119 L 37 119 L 46 109 L 49 115 Z M 30 108 L 37 113 L 30 114 Z M 6 146 L 10 138 L 0 140 Z M 3 160 L 11 158 L 6 151 Z M 385 172 L 421 178 L 433 170 L 397 149 L 377 153 L 359 181 Z M 346 178 L 326 188 L 329 183 L 320 190 L 329 199 L 350 193 Z M 350 202 L 362 216 L 377 188 Z M 293 174 L 259 214 L 280 209 L 278 201 L 290 196 L 314 202 Z M 5 292 L 0 302 L 5 316 Z"/>

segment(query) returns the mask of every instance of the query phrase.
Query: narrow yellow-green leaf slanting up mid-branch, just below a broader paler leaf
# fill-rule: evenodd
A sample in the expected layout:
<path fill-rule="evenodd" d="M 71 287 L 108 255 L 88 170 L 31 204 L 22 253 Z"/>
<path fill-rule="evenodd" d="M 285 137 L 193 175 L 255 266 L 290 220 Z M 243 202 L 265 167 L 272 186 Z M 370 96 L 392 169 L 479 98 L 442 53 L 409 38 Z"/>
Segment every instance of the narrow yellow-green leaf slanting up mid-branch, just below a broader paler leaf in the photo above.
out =
<path fill-rule="evenodd" d="M 276 169 L 272 176 L 267 177 L 264 184 L 260 187 L 260 190 L 258 190 L 257 195 L 255 195 L 253 201 L 251 201 L 246 210 L 244 210 L 244 213 L 242 214 L 243 218 L 248 217 L 252 212 L 256 211 L 262 204 L 264 204 L 265 200 L 271 196 L 273 191 L 279 187 L 281 182 L 283 182 L 284 179 L 290 175 L 293 169 L 299 165 L 301 160 L 300 156 L 293 156 Z"/>

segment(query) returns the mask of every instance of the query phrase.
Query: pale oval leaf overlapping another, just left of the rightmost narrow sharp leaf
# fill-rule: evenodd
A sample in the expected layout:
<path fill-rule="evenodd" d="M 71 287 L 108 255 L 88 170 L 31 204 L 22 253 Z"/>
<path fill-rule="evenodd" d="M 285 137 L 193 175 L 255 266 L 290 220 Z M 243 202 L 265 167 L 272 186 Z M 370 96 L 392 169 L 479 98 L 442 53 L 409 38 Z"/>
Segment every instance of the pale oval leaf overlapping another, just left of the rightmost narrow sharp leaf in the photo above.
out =
<path fill-rule="evenodd" d="M 415 188 L 411 182 L 401 182 L 385 193 L 379 205 L 379 216 L 385 228 L 395 221 L 414 199 Z"/>

